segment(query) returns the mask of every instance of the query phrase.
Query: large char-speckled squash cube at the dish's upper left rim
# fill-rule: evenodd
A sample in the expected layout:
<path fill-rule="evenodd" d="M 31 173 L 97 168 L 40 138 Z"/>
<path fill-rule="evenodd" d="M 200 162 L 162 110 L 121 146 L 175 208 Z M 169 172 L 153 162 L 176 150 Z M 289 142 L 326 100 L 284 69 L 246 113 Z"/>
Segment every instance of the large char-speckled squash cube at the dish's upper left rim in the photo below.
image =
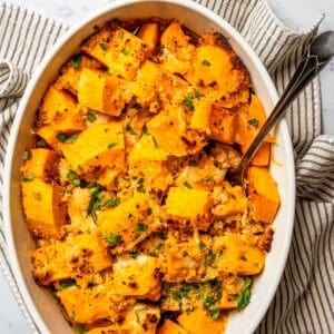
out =
<path fill-rule="evenodd" d="M 95 33 L 81 49 L 108 67 L 110 73 L 128 81 L 134 79 L 147 53 L 140 38 L 112 23 Z"/>

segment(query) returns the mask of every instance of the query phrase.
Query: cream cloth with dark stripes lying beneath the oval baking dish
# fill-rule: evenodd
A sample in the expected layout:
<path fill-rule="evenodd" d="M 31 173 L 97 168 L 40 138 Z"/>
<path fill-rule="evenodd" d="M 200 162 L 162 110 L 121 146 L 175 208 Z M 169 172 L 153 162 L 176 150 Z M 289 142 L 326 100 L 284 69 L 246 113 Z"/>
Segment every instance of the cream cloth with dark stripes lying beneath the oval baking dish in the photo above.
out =
<path fill-rule="evenodd" d="M 196 0 L 234 26 L 257 52 L 282 92 L 317 27 L 296 33 L 265 0 Z M 0 3 L 0 264 L 18 303 L 38 332 L 8 263 L 1 189 L 6 146 L 19 96 L 66 27 Z M 301 46 L 301 47 L 295 47 Z M 296 158 L 297 204 L 283 279 L 257 333 L 334 333 L 334 138 L 321 135 L 321 95 L 314 80 L 286 116 Z"/>

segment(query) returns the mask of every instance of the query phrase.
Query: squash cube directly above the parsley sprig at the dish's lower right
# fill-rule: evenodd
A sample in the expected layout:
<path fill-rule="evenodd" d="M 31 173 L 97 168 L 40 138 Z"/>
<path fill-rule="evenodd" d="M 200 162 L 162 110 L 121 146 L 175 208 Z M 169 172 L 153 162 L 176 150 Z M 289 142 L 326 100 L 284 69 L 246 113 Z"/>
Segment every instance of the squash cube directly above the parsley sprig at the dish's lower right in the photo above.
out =
<path fill-rule="evenodd" d="M 256 275 L 262 272 L 265 263 L 265 253 L 244 242 L 238 234 L 228 234 L 216 237 L 213 243 L 213 253 L 222 255 L 216 258 L 217 271 L 236 275 Z"/>

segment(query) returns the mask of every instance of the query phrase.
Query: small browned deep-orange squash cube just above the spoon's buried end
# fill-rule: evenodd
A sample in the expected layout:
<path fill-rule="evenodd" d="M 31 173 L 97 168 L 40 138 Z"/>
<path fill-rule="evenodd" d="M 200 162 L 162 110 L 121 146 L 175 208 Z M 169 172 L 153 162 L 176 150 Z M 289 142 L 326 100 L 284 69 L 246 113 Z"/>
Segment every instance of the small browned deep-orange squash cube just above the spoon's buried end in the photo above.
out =
<path fill-rule="evenodd" d="M 237 116 L 234 111 L 214 104 L 210 112 L 210 138 L 225 144 L 234 144 Z"/>

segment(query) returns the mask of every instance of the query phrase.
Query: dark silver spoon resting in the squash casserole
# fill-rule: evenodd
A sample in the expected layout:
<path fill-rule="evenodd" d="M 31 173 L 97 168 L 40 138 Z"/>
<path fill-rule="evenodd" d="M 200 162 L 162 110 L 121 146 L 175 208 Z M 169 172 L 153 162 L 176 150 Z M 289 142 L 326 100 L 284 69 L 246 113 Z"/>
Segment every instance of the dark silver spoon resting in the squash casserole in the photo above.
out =
<path fill-rule="evenodd" d="M 278 99 L 272 114 L 263 125 L 255 139 L 252 141 L 239 165 L 235 169 L 228 170 L 226 177 L 233 185 L 242 186 L 245 189 L 244 174 L 259 145 L 274 125 L 285 116 L 286 108 L 294 101 L 305 86 L 310 84 L 310 81 L 314 79 L 330 62 L 333 56 L 334 31 L 323 32 L 310 45 L 304 58 L 297 66 L 297 69 Z"/>

